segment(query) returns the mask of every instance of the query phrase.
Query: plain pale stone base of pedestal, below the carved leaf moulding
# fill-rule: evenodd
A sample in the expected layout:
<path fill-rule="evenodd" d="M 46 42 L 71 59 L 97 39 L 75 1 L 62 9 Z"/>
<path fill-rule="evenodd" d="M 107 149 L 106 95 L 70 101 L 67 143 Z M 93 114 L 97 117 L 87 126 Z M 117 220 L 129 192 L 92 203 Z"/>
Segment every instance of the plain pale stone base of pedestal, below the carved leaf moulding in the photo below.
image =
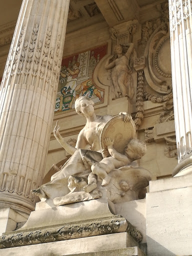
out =
<path fill-rule="evenodd" d="M 98 255 L 106 254 L 107 251 L 114 254 L 106 254 L 106 255 L 116 255 L 116 253 L 121 253 L 118 255 L 138 255 L 144 256 L 145 254 L 139 250 L 135 241 L 132 241 L 131 237 L 126 233 L 115 233 L 115 234 L 107 234 L 107 235 L 99 235 L 78 239 L 71 239 L 65 241 L 55 241 L 49 243 L 41 243 L 34 245 L 26 245 L 21 247 L 14 248 L 6 248 L 3 249 L 2 253 L 4 256 L 15 255 L 19 256 L 22 254 L 26 254 L 29 256 L 49 256 L 49 255 L 82 255 L 85 253 L 90 255 L 94 255 L 91 253 L 98 253 Z M 127 248 L 131 247 L 131 248 Z M 136 253 L 140 254 L 136 254 Z M 128 254 L 130 253 L 130 254 Z M 133 254 L 131 254 L 133 253 Z M 96 255 L 96 254 L 95 254 Z"/>

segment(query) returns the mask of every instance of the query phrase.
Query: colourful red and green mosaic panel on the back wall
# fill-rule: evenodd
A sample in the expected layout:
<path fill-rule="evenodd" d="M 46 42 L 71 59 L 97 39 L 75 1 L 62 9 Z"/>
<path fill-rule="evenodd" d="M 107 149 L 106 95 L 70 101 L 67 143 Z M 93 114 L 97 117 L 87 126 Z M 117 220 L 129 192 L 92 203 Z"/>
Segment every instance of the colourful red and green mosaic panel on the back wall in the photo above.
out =
<path fill-rule="evenodd" d="M 79 96 L 90 97 L 95 104 L 103 102 L 104 90 L 94 84 L 93 71 L 107 53 L 107 44 L 62 59 L 54 114 L 74 110 Z"/>

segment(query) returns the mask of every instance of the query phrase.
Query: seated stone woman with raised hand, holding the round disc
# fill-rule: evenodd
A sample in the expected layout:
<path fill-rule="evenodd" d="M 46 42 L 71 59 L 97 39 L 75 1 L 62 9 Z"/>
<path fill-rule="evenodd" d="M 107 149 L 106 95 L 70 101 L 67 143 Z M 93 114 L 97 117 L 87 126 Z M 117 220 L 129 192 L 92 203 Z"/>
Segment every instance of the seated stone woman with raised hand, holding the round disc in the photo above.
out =
<path fill-rule="evenodd" d="M 86 96 L 76 99 L 75 110 L 79 115 L 86 118 L 86 124 L 79 132 L 76 145 L 73 147 L 64 141 L 59 133 L 59 125 L 56 123 L 53 134 L 62 147 L 71 154 L 71 157 L 58 172 L 52 175 L 50 182 L 32 190 L 41 200 L 67 194 L 70 191 L 67 185 L 71 175 L 87 176 L 91 172 L 90 166 L 93 163 L 100 162 L 103 157 L 108 156 L 107 149 L 101 150 L 100 133 L 112 115 L 96 115 L 94 102 Z M 128 122 L 130 118 L 130 114 L 124 113 L 124 122 Z"/>

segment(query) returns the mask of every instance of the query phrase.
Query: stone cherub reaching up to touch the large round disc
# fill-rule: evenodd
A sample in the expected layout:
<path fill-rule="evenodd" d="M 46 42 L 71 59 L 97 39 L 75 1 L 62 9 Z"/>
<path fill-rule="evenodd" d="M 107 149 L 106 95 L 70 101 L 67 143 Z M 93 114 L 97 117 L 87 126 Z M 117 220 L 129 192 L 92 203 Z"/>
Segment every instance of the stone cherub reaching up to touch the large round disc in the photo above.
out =
<path fill-rule="evenodd" d="M 142 140 L 130 139 L 125 146 L 124 154 L 117 152 L 113 148 L 114 139 L 111 141 L 109 137 L 104 138 L 111 156 L 103 158 L 100 162 L 93 163 L 92 172 L 88 175 L 88 184 L 83 188 L 85 192 L 91 192 L 97 187 L 96 176 L 102 179 L 102 186 L 107 185 L 110 181 L 108 173 L 122 166 L 130 164 L 132 161 L 141 158 L 146 153 L 146 145 Z"/>

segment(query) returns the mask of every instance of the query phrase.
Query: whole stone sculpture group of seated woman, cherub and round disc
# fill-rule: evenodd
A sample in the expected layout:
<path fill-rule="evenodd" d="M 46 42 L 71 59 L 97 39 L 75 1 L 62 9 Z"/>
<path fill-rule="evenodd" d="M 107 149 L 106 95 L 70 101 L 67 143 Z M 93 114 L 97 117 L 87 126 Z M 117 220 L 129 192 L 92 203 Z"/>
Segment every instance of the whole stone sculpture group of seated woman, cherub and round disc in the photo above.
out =
<path fill-rule="evenodd" d="M 146 145 L 134 138 L 135 126 L 130 114 L 96 115 L 94 102 L 86 96 L 75 101 L 75 110 L 86 118 L 75 147 L 64 141 L 58 122 L 53 131 L 71 157 L 52 175 L 50 182 L 32 192 L 41 200 L 53 199 L 57 206 L 100 197 L 113 203 L 143 198 L 150 172 L 134 160 L 144 155 Z"/>

